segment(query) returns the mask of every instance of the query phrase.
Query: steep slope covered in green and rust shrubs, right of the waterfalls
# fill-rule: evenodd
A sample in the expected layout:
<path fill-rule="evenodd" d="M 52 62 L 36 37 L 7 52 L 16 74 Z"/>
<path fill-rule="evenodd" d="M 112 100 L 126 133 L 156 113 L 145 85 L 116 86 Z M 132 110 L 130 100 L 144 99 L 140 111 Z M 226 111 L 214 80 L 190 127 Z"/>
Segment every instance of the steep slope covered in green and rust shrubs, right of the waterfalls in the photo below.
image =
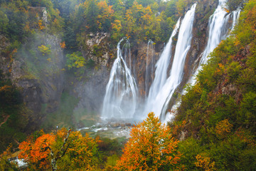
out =
<path fill-rule="evenodd" d="M 174 136 L 183 139 L 178 149 L 188 170 L 256 166 L 255 9 L 256 1 L 248 1 L 233 35 L 210 54 L 170 123 Z"/>

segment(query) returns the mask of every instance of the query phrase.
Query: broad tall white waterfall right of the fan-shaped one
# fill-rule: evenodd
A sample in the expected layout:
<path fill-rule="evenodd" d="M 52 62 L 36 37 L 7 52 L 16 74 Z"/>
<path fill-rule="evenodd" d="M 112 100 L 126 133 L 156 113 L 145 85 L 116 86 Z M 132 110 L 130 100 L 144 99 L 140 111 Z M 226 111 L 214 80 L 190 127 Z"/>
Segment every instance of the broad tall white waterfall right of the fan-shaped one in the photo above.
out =
<path fill-rule="evenodd" d="M 184 16 L 181 22 L 181 27 L 178 33 L 178 41 L 176 43 L 176 50 L 174 54 L 174 61 L 171 66 L 171 72 L 169 78 L 166 80 L 166 73 L 156 73 L 155 80 L 149 90 L 149 99 L 145 106 L 145 112 L 153 111 L 156 116 L 160 116 L 164 108 L 166 101 L 169 101 L 174 90 L 181 83 L 183 78 L 183 66 L 186 59 L 186 54 L 191 47 L 193 20 L 196 11 L 196 4 L 193 4 L 191 9 Z M 178 25 L 178 24 L 177 24 Z M 175 32 L 175 31 L 174 31 Z M 169 42 L 170 43 L 170 42 Z M 170 46 L 166 46 L 166 49 Z M 167 50 L 166 50 L 166 53 Z M 168 65 L 169 63 L 167 63 Z M 156 67 L 161 69 L 160 62 L 156 64 Z M 168 67 L 168 66 L 167 66 Z M 156 68 L 156 71 L 157 71 Z M 158 89 L 158 90 L 157 90 Z"/>

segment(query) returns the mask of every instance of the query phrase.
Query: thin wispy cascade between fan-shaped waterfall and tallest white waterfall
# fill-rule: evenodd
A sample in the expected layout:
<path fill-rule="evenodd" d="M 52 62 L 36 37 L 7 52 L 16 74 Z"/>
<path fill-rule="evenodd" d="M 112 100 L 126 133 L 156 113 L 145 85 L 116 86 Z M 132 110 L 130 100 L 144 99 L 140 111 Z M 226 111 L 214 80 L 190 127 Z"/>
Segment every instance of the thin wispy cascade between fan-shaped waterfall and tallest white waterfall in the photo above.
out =
<path fill-rule="evenodd" d="M 149 61 L 150 59 L 150 61 Z M 145 95 L 149 92 L 149 80 L 154 73 L 154 41 L 149 40 L 146 48 Z"/>

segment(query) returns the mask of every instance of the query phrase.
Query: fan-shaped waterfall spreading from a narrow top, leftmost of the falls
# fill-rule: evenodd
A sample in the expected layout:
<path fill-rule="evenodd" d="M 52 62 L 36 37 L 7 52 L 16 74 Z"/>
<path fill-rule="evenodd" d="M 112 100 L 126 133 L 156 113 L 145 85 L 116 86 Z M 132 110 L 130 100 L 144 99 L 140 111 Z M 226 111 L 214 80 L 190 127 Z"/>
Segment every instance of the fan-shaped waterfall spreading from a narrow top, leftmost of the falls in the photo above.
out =
<path fill-rule="evenodd" d="M 137 85 L 130 69 L 122 57 L 120 44 L 117 44 L 117 58 L 110 71 L 106 94 L 102 107 L 102 118 L 126 119 L 133 118 L 137 105 Z M 126 45 L 129 48 L 129 42 Z M 129 51 L 129 49 L 128 49 Z M 129 60 L 131 62 L 131 60 Z"/>

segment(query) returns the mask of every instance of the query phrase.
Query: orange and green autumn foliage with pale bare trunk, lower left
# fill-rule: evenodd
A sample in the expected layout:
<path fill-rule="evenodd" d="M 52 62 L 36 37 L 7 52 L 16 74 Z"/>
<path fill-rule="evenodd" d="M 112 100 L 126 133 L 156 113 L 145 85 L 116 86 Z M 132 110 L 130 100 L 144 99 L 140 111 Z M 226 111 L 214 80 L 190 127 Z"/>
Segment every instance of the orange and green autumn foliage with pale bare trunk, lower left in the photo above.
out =
<path fill-rule="evenodd" d="M 31 170 L 93 170 L 98 163 L 97 141 L 65 128 L 50 134 L 41 130 L 21 142 L 18 157 Z"/>

